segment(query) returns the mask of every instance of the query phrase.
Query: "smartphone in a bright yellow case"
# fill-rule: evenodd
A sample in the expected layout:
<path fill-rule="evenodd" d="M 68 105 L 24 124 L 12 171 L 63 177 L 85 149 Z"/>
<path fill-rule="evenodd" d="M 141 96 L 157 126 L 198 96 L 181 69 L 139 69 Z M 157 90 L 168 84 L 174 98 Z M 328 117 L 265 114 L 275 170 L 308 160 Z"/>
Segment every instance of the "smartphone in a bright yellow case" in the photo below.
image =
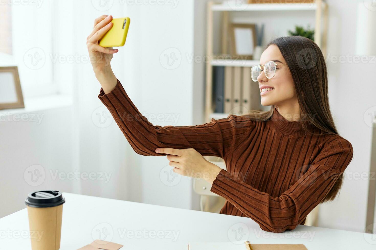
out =
<path fill-rule="evenodd" d="M 99 45 L 102 47 L 118 47 L 123 46 L 127 38 L 130 18 L 114 18 L 111 21 L 114 25 L 107 31 L 107 33 L 100 39 Z"/>

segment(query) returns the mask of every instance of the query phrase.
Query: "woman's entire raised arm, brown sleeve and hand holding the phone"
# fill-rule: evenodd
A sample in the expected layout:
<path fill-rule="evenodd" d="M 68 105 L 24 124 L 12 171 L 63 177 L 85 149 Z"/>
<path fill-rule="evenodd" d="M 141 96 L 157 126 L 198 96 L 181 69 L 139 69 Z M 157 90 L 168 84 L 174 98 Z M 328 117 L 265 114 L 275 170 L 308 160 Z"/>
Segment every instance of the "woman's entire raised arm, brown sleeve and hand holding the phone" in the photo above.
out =
<path fill-rule="evenodd" d="M 156 148 L 194 148 L 203 156 L 224 157 L 244 139 L 254 125 L 241 116 L 229 115 L 197 126 L 154 126 L 141 115 L 123 86 L 115 77 L 110 61 L 117 49 L 104 48 L 99 40 L 112 27 L 112 16 L 103 15 L 94 21 L 86 39 L 90 61 L 96 78 L 102 85 L 99 99 L 109 109 L 116 123 L 136 153 L 144 156 L 164 156 Z"/>

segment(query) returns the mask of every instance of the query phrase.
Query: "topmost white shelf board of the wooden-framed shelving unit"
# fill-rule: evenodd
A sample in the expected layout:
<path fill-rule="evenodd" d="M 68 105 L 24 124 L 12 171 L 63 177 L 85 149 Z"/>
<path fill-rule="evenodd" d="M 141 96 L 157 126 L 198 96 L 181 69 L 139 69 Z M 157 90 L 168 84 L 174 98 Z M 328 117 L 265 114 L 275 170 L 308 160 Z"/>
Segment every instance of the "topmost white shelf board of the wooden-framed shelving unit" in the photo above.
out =
<path fill-rule="evenodd" d="M 272 10 L 316 10 L 315 3 L 278 3 L 278 4 L 242 4 L 231 3 L 214 4 L 212 11 L 272 11 Z"/>

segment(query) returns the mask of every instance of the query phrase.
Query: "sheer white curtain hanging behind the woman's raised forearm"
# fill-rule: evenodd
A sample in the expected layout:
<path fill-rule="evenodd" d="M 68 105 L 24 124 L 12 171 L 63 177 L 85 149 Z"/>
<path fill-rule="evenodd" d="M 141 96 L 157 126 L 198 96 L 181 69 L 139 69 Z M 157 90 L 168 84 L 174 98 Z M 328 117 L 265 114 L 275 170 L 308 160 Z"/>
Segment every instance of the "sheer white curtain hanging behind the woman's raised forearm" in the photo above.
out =
<path fill-rule="evenodd" d="M 70 40 L 71 54 L 80 59 L 71 65 L 71 72 L 67 74 L 73 76 L 73 168 L 88 176 L 85 175 L 87 180 L 80 180 L 76 191 L 84 195 L 128 200 L 128 169 L 131 165 L 137 165 L 137 157 L 134 154 L 129 155 L 132 149 L 126 138 L 97 98 L 100 84 L 88 61 L 86 48 L 86 37 L 92 30 L 95 18 L 110 12 L 113 16 L 123 16 L 126 6 L 116 4 L 118 2 L 114 1 L 110 10 L 102 12 L 97 10 L 91 1 L 72 1 L 73 19 L 68 21 L 72 24 L 69 26 L 74 29 L 73 39 Z M 67 6 L 66 3 L 64 5 Z M 124 79 L 124 74 L 120 69 L 124 68 L 125 61 L 122 53 L 120 56 L 116 55 L 112 63 L 117 77 L 121 79 Z M 141 184 L 141 181 L 137 183 Z M 134 190 L 137 192 L 137 189 Z"/>

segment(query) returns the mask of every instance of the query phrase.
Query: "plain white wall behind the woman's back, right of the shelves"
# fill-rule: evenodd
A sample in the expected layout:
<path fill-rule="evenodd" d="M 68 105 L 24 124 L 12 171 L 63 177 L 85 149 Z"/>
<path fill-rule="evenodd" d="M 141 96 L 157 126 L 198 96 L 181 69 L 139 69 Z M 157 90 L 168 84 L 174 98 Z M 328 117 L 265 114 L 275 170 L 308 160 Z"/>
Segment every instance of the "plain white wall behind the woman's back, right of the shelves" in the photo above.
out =
<path fill-rule="evenodd" d="M 350 58 L 344 63 L 328 61 L 329 100 L 338 132 L 352 143 L 354 158 L 346 169 L 347 174 L 338 198 L 321 205 L 319 225 L 361 232 L 367 226 L 365 216 L 368 178 L 357 175 L 366 174 L 369 177 L 372 129 L 365 123 L 364 114 L 367 109 L 374 107 L 375 110 L 376 107 L 376 59 L 369 63 L 356 63 L 353 60 L 358 53 L 355 34 L 365 37 L 365 34 L 356 33 L 358 3 L 363 1 L 347 0 L 341 1 L 341 4 L 336 0 L 327 2 L 329 58 L 341 55 L 346 57 L 348 54 Z M 365 8 L 362 4 L 360 6 Z M 369 11 L 371 15 L 376 15 L 375 11 Z M 374 45 L 374 41 L 371 44 Z M 376 51 L 368 55 L 376 55 Z"/>

